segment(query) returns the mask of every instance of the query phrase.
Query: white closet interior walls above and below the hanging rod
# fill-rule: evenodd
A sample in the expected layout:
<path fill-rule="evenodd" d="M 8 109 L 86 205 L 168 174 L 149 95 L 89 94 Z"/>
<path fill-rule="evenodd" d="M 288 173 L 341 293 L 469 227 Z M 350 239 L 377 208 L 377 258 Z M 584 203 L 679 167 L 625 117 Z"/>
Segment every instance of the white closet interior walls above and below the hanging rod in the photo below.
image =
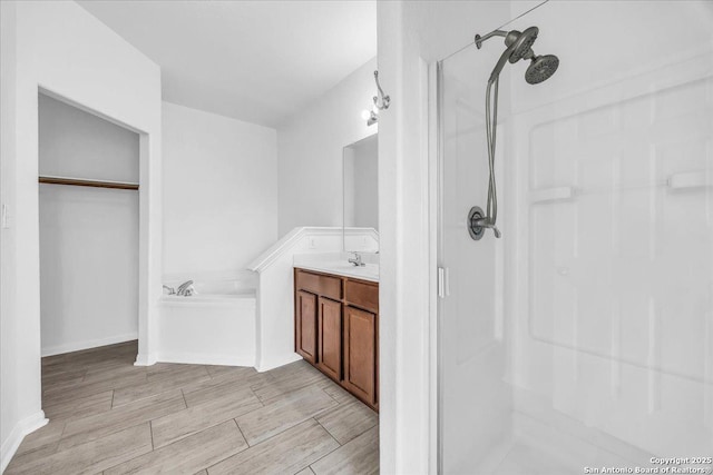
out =
<path fill-rule="evenodd" d="M 39 97 L 39 171 L 138 182 L 139 136 Z M 138 192 L 40 185 L 42 356 L 136 339 Z"/>

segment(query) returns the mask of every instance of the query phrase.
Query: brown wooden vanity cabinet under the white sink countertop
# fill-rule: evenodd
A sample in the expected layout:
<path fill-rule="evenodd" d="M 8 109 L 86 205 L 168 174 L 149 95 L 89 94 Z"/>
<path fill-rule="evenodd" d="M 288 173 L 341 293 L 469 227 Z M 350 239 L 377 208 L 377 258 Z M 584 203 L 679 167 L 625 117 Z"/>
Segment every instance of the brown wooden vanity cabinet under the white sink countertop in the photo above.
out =
<path fill-rule="evenodd" d="M 379 409 L 379 284 L 295 269 L 295 352 Z"/>

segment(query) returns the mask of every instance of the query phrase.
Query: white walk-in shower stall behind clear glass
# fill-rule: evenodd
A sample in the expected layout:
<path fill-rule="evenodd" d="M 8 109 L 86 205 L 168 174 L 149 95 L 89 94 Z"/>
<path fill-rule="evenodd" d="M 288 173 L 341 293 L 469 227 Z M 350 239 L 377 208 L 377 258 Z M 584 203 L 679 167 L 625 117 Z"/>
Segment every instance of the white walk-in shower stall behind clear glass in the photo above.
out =
<path fill-rule="evenodd" d="M 713 2 L 488 27 L 438 65 L 440 472 L 713 473 Z"/>

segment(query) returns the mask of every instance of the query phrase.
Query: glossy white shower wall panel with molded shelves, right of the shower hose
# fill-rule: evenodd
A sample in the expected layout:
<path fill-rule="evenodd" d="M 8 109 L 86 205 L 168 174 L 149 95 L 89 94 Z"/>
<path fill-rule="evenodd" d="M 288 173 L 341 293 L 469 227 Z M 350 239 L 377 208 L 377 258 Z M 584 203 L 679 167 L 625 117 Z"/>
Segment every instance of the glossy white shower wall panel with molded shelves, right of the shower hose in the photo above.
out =
<path fill-rule="evenodd" d="M 627 466 L 710 454 L 713 56 L 514 113 L 514 127 L 515 431 L 578 434 L 573 467 L 595 447 Z"/>

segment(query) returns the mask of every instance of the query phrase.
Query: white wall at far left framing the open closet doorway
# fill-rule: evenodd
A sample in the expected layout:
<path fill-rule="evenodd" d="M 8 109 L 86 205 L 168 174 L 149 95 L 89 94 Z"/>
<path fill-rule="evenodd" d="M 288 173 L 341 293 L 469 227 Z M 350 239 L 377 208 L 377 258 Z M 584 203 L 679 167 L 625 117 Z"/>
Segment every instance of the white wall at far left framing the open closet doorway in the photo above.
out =
<path fill-rule="evenodd" d="M 141 133 L 137 359 L 147 364 L 152 362 L 153 323 L 160 297 L 160 70 L 74 2 L 3 1 L 0 8 L 2 69 L 10 78 L 2 82 L 0 127 L 2 199 L 11 216 L 10 227 L 2 229 L 3 293 L 6 283 L 14 286 L 2 299 L 0 313 L 0 455 L 4 467 L 22 436 L 45 420 L 40 383 L 38 90 L 42 88 Z M 8 365 L 12 367 L 6 369 Z"/>

